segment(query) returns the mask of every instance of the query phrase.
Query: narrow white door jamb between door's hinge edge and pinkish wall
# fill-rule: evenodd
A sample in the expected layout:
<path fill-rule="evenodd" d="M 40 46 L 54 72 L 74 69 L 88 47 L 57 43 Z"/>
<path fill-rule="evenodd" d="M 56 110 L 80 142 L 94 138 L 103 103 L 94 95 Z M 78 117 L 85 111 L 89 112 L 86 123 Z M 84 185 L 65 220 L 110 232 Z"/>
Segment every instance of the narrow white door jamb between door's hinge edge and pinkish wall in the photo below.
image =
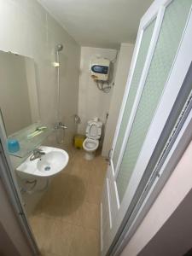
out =
<path fill-rule="evenodd" d="M 191 79 L 192 80 L 192 79 Z M 146 190 L 138 201 L 136 209 L 131 213 L 129 220 L 124 219 L 122 224 L 123 230 L 119 232 L 119 237 L 116 237 L 116 242 L 110 248 L 110 256 L 119 256 L 123 252 L 127 243 L 136 232 L 138 226 L 142 223 L 143 218 L 152 207 L 160 191 L 163 189 L 169 177 L 172 175 L 177 163 L 182 158 L 185 149 L 188 147 L 192 139 L 192 102 L 190 103 L 189 113 L 183 122 L 181 130 L 172 144 L 172 148 L 167 153 L 166 158 L 160 169 L 156 173 L 154 180 L 146 185 Z M 148 188 L 147 188 L 148 186 Z M 126 217 L 125 217 L 126 218 Z M 124 227 L 123 227 L 124 226 Z M 109 252 L 109 251 L 108 251 Z"/>

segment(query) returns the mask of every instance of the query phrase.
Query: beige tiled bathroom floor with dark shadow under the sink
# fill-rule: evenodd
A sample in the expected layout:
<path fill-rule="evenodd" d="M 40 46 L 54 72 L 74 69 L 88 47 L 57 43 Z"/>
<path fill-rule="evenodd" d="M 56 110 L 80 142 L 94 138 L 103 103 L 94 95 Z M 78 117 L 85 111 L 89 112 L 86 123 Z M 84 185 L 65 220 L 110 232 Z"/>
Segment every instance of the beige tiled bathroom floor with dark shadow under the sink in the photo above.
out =
<path fill-rule="evenodd" d="M 71 149 L 66 169 L 55 176 L 30 218 L 44 256 L 100 255 L 100 200 L 107 162 Z"/>

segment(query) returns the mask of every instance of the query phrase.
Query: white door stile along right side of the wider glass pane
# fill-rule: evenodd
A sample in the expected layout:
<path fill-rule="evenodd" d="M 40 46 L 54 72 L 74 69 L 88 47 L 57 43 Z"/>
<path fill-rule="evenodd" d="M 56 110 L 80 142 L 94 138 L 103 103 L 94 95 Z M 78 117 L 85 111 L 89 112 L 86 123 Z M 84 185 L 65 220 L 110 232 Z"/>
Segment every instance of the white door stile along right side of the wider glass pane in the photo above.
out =
<path fill-rule="evenodd" d="M 166 0 L 164 2 L 166 2 Z M 172 1 L 168 2 L 171 3 Z M 148 133 L 145 137 L 140 154 L 137 158 L 137 163 L 133 169 L 130 182 L 125 191 L 124 199 L 121 201 L 121 207 L 124 208 L 124 212 L 121 212 L 121 215 L 125 214 L 126 205 L 130 205 L 131 200 L 137 191 L 137 186 L 140 183 L 143 177 L 143 173 L 148 166 L 148 162 L 152 157 L 154 148 L 158 143 L 163 127 L 166 124 L 166 121 L 169 118 L 169 114 L 172 111 L 172 106 L 176 101 L 177 95 L 188 73 L 192 60 L 192 51 L 190 50 L 191 46 L 189 44 L 190 38 L 192 36 L 191 12 L 192 7 L 189 10 L 189 17 L 183 30 L 183 37 L 181 38 L 180 44 L 178 46 L 177 54 L 172 63 L 171 71 L 168 75 L 168 78 L 166 79 L 165 88 L 162 92 L 160 102 L 154 113 L 151 125 L 148 127 Z M 145 148 L 148 148 L 148 150 L 145 150 Z"/>

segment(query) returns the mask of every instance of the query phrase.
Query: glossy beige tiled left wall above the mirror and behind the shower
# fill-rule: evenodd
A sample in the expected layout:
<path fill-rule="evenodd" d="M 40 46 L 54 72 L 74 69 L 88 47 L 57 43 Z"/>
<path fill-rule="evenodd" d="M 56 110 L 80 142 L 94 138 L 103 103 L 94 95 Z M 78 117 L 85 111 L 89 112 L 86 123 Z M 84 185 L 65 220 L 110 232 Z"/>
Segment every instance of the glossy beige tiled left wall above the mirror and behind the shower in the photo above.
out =
<path fill-rule="evenodd" d="M 61 43 L 61 119 L 68 126 L 67 142 L 76 131 L 80 47 L 35 0 L 0 0 L 0 49 L 34 58 L 38 71 L 41 119 L 55 122 L 55 44 Z"/>

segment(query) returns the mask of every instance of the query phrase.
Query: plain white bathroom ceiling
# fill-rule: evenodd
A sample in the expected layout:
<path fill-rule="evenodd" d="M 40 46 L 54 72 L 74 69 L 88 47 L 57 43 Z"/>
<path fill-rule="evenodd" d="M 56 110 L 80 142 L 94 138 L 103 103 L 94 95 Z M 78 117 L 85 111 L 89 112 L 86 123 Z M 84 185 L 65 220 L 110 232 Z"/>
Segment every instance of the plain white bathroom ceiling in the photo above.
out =
<path fill-rule="evenodd" d="M 139 20 L 153 0 L 38 0 L 82 46 L 134 43 Z"/>

